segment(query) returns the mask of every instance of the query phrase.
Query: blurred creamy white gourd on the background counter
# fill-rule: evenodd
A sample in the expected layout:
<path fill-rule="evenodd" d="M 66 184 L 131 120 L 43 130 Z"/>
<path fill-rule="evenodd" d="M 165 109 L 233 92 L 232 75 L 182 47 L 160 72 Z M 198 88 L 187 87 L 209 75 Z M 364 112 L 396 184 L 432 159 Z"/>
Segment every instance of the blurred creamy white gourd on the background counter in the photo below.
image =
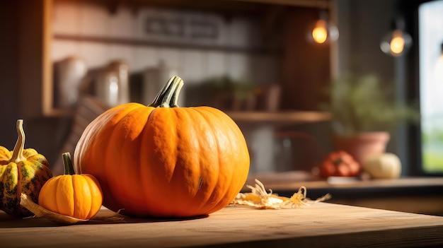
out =
<path fill-rule="evenodd" d="M 398 178 L 401 175 L 401 160 L 393 153 L 381 153 L 367 158 L 363 170 L 375 179 Z"/>

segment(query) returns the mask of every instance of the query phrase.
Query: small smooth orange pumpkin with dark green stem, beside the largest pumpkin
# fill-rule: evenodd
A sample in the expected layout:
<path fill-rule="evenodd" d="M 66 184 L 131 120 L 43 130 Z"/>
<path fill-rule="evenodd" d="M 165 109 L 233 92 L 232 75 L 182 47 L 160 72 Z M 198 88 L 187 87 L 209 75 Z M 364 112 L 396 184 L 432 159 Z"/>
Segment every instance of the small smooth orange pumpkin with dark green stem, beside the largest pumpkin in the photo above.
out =
<path fill-rule="evenodd" d="M 100 184 L 93 175 L 76 175 L 69 153 L 63 153 L 63 163 L 64 175 L 52 177 L 43 185 L 39 205 L 81 220 L 93 218 L 103 202 Z"/>

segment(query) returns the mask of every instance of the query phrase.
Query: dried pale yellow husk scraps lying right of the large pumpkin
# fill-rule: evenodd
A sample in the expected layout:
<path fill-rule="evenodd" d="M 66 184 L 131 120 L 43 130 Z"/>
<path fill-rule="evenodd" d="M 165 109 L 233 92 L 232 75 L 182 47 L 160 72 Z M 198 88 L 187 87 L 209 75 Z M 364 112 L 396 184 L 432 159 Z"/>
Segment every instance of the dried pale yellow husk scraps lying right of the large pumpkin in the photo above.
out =
<path fill-rule="evenodd" d="M 290 198 L 272 194 L 272 189 L 269 193 L 265 186 L 258 179 L 255 179 L 255 187 L 247 185 L 251 189 L 251 193 L 238 193 L 236 199 L 231 202 L 231 205 L 253 206 L 255 208 L 263 209 L 279 209 L 279 208 L 297 208 L 299 206 L 310 206 L 319 201 L 326 201 L 330 199 L 330 194 L 326 194 L 315 201 L 306 198 L 306 187 L 299 188 L 297 193 L 294 193 Z"/>

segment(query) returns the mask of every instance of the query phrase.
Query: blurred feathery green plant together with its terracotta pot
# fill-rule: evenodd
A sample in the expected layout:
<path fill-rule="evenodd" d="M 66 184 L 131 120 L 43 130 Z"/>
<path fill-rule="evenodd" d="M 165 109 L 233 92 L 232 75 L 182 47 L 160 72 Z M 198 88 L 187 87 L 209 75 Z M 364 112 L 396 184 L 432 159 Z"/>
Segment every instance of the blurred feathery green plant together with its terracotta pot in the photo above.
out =
<path fill-rule="evenodd" d="M 418 111 L 401 104 L 388 84 L 375 74 L 345 74 L 330 85 L 333 142 L 363 163 L 371 155 L 384 153 L 390 133 L 399 122 L 418 119 Z"/>

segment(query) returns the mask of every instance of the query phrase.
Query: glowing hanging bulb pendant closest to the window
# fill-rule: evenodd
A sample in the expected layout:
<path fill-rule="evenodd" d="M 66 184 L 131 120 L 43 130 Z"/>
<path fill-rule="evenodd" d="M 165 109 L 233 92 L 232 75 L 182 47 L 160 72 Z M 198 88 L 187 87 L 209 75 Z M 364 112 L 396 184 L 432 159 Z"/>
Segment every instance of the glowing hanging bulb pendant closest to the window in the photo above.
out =
<path fill-rule="evenodd" d="M 413 39 L 405 31 L 403 18 L 397 18 L 392 30 L 381 39 L 380 49 L 392 57 L 400 57 L 406 54 L 412 45 Z"/>

